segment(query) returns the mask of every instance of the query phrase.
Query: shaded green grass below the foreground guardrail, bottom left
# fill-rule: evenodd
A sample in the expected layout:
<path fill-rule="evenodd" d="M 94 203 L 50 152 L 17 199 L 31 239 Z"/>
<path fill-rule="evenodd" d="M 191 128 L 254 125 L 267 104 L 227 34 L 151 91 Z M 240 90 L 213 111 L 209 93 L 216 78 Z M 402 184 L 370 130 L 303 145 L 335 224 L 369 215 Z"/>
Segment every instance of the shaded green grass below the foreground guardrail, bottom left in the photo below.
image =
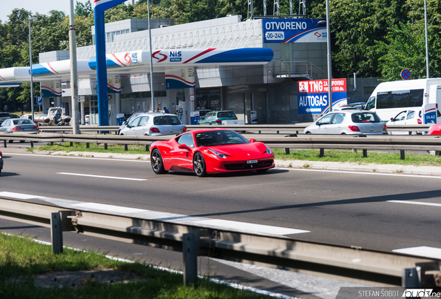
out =
<path fill-rule="evenodd" d="M 51 271 L 112 269 L 127 275 L 127 283 L 105 283 L 94 278 L 72 286 L 44 287 L 35 275 Z M 130 278 L 140 278 L 134 281 Z M 160 271 L 141 262 L 110 260 L 102 253 L 74 251 L 53 255 L 51 246 L 29 237 L 0 234 L 0 298 L 269 298 L 199 279 L 198 287 L 184 287 L 180 274 Z"/>

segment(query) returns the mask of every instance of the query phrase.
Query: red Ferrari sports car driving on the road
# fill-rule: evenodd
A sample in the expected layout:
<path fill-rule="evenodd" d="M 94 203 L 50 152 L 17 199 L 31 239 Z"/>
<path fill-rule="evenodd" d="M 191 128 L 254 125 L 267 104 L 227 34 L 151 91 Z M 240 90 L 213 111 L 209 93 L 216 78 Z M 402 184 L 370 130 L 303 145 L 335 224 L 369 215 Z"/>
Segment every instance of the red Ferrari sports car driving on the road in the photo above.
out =
<path fill-rule="evenodd" d="M 150 161 L 156 174 L 168 170 L 195 172 L 198 176 L 274 167 L 271 149 L 254 139 L 248 141 L 231 129 L 199 129 L 169 141 L 155 141 Z"/>

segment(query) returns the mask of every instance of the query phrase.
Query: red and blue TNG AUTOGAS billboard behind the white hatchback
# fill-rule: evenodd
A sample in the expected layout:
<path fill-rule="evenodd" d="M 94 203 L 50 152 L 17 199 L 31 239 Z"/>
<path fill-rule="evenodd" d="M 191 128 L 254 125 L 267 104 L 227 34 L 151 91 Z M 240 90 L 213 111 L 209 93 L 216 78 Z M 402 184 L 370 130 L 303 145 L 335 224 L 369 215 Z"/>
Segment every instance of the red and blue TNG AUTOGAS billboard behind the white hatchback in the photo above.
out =
<path fill-rule="evenodd" d="M 328 80 L 299 81 L 299 114 L 325 114 L 329 110 Z M 346 79 L 332 80 L 332 109 L 347 104 Z"/>

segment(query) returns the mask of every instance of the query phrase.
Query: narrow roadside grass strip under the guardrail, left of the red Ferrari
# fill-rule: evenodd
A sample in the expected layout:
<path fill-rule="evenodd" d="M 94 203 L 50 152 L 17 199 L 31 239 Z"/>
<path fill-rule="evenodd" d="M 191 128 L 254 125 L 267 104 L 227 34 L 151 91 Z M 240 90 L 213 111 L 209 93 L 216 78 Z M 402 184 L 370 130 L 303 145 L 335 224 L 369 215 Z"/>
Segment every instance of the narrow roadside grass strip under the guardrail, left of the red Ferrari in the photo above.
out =
<path fill-rule="evenodd" d="M 33 152 L 35 149 L 45 150 L 49 152 L 106 152 L 115 154 L 150 154 L 146 152 L 144 145 L 128 145 L 128 151 L 124 150 L 124 145 L 110 145 L 107 144 L 107 149 L 104 149 L 104 143 L 96 145 L 95 143 L 89 143 L 89 148 L 85 143 L 74 143 L 70 146 L 70 143 L 54 144 L 54 145 L 42 145 L 40 147 L 31 147 L 28 151 Z"/>

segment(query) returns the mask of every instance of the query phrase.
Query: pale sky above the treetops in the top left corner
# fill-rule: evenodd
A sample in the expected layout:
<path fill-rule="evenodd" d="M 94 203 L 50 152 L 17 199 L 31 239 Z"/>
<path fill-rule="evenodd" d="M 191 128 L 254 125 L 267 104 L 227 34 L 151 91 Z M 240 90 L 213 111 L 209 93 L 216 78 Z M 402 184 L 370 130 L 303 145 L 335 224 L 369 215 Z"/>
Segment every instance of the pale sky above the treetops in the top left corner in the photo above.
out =
<path fill-rule="evenodd" d="M 86 3 L 87 0 L 74 0 L 76 2 Z M 92 2 L 92 1 L 91 1 Z M 48 15 L 50 10 L 60 10 L 69 15 L 70 0 L 1 0 L 0 19 L 4 24 L 8 20 L 8 15 L 14 8 L 24 8 L 30 10 L 33 14 L 40 12 L 41 15 Z"/>

